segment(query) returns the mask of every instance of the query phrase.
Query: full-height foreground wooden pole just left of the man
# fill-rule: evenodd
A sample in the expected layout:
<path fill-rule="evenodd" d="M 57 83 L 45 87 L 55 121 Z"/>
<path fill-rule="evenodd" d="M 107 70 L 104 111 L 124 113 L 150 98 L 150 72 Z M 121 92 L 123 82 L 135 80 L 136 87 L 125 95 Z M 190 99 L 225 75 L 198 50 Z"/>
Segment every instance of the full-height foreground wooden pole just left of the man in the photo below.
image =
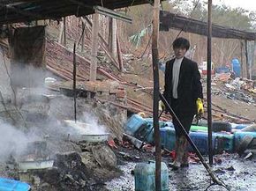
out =
<path fill-rule="evenodd" d="M 160 0 L 154 0 L 153 12 L 153 33 L 152 33 L 152 60 L 154 76 L 154 104 L 153 104 L 153 125 L 155 144 L 155 191 L 161 191 L 161 143 L 160 129 L 158 121 L 158 101 L 159 101 L 159 70 L 158 70 L 158 38 L 159 38 L 159 7 Z"/>

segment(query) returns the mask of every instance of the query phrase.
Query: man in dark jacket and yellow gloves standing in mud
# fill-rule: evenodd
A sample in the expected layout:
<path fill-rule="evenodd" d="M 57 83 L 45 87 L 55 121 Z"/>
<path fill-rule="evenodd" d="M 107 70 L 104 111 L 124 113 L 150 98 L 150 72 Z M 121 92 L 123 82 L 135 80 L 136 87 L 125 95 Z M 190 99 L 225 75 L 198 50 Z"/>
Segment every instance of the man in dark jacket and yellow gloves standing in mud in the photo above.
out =
<path fill-rule="evenodd" d="M 189 40 L 182 37 L 174 40 L 175 58 L 166 62 L 163 92 L 164 98 L 187 133 L 191 128 L 194 114 L 203 113 L 203 93 L 198 65 L 184 57 L 189 48 Z M 162 102 L 161 106 L 165 108 Z M 173 170 L 177 170 L 179 167 L 188 166 L 187 140 L 174 116 L 172 116 L 172 122 L 176 130 L 176 158 L 172 167 Z"/>

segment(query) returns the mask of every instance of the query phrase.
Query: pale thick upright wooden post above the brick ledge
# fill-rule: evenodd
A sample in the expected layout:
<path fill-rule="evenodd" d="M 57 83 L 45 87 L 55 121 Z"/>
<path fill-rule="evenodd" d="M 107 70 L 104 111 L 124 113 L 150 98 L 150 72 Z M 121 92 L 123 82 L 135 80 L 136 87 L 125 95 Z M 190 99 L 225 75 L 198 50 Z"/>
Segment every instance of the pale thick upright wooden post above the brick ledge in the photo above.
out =
<path fill-rule="evenodd" d="M 90 81 L 96 81 L 97 74 L 97 53 L 98 53 L 99 14 L 93 15 L 92 30 L 92 56 L 90 65 Z"/>

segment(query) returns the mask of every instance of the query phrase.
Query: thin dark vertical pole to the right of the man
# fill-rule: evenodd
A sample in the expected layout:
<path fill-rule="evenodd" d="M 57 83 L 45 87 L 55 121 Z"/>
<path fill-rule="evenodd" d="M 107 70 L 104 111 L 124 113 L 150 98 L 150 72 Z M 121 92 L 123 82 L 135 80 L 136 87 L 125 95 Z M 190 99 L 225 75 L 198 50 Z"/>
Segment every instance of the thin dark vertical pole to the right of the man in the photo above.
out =
<path fill-rule="evenodd" d="M 213 142 L 212 142 L 212 0 L 208 0 L 208 35 L 207 35 L 207 123 L 208 123 L 208 152 L 209 164 L 213 165 Z"/>

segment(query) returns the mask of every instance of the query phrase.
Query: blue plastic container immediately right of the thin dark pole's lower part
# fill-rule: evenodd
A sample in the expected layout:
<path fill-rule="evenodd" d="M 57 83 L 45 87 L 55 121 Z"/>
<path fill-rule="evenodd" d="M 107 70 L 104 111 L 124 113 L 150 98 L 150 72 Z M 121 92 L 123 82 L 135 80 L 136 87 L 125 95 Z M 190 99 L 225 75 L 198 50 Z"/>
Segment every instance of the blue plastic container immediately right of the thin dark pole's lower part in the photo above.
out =
<path fill-rule="evenodd" d="M 217 147 L 215 147 L 215 153 L 221 153 L 222 151 L 234 151 L 235 136 L 233 134 L 218 132 L 215 133 L 215 136 L 217 139 Z"/>

